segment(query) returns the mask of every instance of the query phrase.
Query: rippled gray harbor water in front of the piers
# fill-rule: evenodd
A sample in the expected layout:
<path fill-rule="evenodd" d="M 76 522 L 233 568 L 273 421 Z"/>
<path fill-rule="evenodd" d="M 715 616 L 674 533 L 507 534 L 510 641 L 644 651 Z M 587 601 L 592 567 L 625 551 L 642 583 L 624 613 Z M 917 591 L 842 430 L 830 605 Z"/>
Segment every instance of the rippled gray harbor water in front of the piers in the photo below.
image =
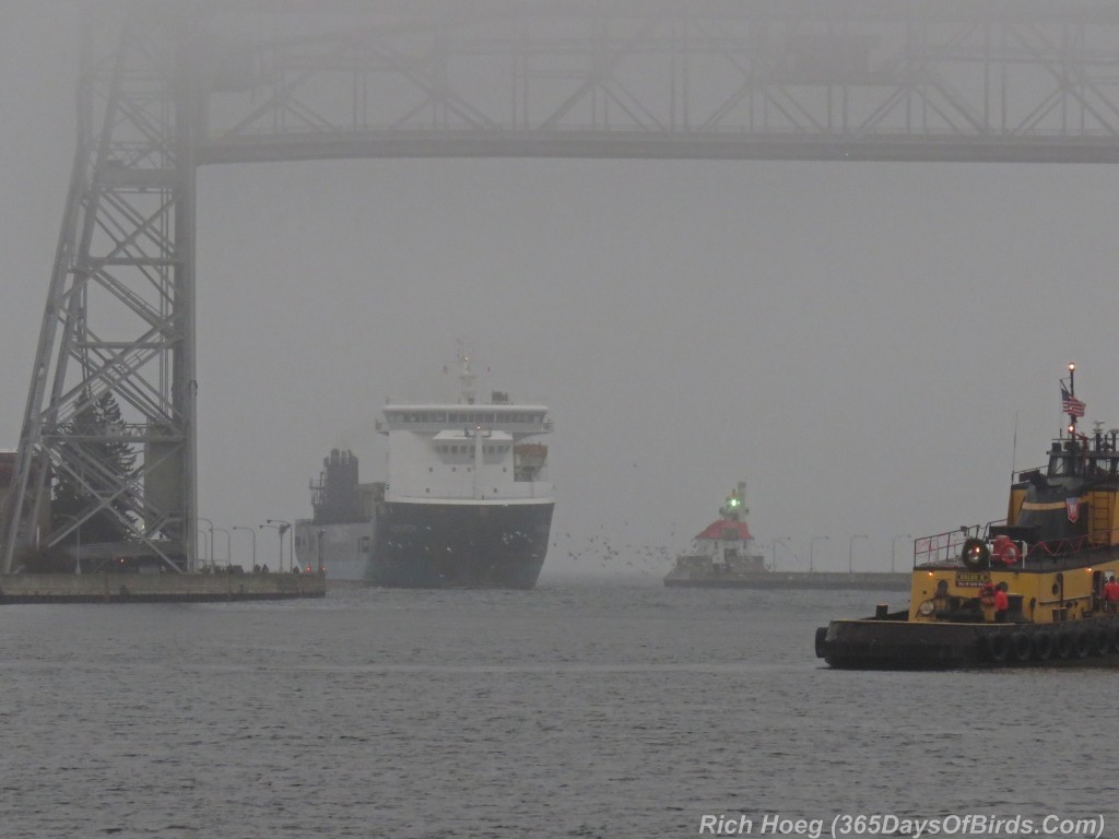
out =
<path fill-rule="evenodd" d="M 1119 836 L 1119 673 L 816 659 L 888 598 L 545 575 L 4 606 L 0 835 Z"/>

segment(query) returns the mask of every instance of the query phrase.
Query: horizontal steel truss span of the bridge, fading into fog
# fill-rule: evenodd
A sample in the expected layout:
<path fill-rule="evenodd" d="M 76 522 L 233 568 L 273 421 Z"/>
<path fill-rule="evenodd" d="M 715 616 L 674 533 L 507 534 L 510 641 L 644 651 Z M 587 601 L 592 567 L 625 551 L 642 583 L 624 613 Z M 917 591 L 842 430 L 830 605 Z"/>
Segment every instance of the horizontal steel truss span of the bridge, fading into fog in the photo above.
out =
<path fill-rule="evenodd" d="M 220 8 L 199 162 L 1119 160 L 1108 2 Z"/>

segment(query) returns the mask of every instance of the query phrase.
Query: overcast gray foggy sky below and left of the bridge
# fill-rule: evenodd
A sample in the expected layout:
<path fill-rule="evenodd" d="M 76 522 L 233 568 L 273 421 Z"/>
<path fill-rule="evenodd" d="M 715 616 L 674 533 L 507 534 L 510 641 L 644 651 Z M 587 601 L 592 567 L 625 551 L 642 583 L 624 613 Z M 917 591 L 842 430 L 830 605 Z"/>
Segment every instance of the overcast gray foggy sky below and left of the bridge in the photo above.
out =
<path fill-rule="evenodd" d="M 0 447 L 70 177 L 75 54 L 70 3 L 0 0 Z M 846 568 L 865 534 L 856 568 L 886 568 L 895 536 L 1005 515 L 1015 425 L 1017 468 L 1041 463 L 1069 360 L 1087 418 L 1119 425 L 1116 167 L 355 160 L 198 185 L 218 526 L 309 515 L 332 446 L 383 479 L 380 406 L 450 397 L 458 337 L 482 388 L 552 408 L 546 573 L 667 572 L 650 553 L 686 548 L 740 479 L 781 567 L 828 536 L 817 567 Z"/>

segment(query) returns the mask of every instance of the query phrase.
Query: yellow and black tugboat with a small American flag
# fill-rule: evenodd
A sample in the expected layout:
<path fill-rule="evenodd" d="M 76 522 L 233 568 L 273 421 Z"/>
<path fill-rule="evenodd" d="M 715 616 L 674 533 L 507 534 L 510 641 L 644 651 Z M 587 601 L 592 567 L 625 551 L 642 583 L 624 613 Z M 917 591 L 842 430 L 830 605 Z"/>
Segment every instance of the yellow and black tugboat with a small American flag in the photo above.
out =
<path fill-rule="evenodd" d="M 1099 663 L 1119 653 L 1119 430 L 1069 423 L 1047 465 L 1018 473 L 1005 520 L 914 541 L 910 606 L 831 621 L 816 654 L 850 669 Z"/>

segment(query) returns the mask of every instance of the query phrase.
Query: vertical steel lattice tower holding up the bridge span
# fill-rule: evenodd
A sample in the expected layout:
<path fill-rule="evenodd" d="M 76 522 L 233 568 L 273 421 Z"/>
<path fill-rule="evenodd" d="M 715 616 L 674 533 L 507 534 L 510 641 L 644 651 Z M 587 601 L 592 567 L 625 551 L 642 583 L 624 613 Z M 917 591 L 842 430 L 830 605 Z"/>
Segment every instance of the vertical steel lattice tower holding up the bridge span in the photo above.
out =
<path fill-rule="evenodd" d="M 84 16 L 77 152 L 4 511 L 4 572 L 18 547 L 49 548 L 106 516 L 128 553 L 194 564 L 195 98 L 178 72 L 190 31 L 139 7 Z M 75 422 L 106 394 L 119 421 Z M 60 522 L 48 515 L 56 479 L 86 505 Z"/>

